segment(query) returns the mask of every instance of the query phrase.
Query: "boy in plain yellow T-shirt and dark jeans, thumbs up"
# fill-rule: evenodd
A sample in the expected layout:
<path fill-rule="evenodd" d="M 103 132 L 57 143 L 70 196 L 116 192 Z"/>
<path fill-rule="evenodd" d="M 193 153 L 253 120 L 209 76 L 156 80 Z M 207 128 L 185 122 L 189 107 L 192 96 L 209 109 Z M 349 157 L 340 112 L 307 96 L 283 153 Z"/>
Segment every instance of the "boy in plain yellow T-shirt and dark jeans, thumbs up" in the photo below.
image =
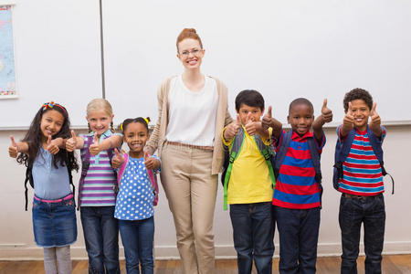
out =
<path fill-rule="evenodd" d="M 231 173 L 226 174 L 238 273 L 251 273 L 254 259 L 258 273 L 271 274 L 274 224 L 270 204 L 275 181 L 258 147 L 258 143 L 268 148 L 270 144 L 270 131 L 263 130 L 260 121 L 264 99 L 256 90 L 243 90 L 237 95 L 236 111 L 237 121 L 227 126 L 222 139 L 230 153 L 243 140 Z"/>

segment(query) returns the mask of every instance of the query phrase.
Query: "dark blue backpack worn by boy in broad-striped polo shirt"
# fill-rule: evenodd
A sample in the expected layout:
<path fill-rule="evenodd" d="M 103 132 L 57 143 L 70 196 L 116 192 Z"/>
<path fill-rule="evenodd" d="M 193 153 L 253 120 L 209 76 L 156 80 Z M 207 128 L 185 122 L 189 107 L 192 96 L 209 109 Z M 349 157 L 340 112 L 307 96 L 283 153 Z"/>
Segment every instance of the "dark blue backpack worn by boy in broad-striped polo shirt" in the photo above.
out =
<path fill-rule="evenodd" d="M 282 140 L 281 144 L 279 146 L 279 151 L 276 153 L 276 156 L 274 158 L 274 173 L 276 175 L 276 178 L 279 177 L 279 167 L 281 164 L 284 162 L 284 158 L 286 156 L 287 150 L 290 146 L 291 142 L 291 137 L 292 137 L 292 130 L 290 132 L 285 132 L 282 134 Z M 321 197 L 322 197 L 322 174 L 321 174 L 321 154 L 318 153 L 317 151 L 317 145 L 315 144 L 315 137 L 309 137 L 307 138 L 307 143 L 309 145 L 310 153 L 311 153 L 311 161 L 312 165 L 314 166 L 315 170 L 315 181 L 319 184 L 320 186 L 320 208 L 321 208 Z"/>

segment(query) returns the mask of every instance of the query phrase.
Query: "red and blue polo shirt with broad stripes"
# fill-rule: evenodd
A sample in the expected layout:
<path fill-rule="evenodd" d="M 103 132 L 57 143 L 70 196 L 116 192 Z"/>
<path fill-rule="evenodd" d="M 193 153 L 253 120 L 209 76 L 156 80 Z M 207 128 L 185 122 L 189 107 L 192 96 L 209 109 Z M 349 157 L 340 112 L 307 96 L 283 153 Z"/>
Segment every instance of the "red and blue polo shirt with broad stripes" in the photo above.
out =
<path fill-rule="evenodd" d="M 284 133 L 281 132 L 279 143 L 273 143 L 277 153 Z M 291 209 L 321 206 L 320 185 L 315 181 L 315 169 L 311 160 L 308 138 L 314 138 L 317 150 L 321 154 L 325 144 L 325 134 L 322 134 L 322 142 L 319 144 L 312 132 L 307 132 L 303 136 L 292 132 L 290 146 L 279 167 L 272 205 Z"/>

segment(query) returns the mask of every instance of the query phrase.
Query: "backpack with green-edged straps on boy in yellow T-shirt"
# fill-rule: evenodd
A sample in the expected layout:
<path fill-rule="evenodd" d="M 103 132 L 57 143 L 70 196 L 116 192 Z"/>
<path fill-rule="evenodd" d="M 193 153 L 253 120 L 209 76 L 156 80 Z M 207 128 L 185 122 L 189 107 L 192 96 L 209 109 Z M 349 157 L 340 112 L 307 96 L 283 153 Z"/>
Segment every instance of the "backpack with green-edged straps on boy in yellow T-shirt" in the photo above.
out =
<path fill-rule="evenodd" d="M 224 165 L 223 165 L 223 174 L 221 175 L 221 183 L 224 186 L 224 210 L 227 210 L 227 189 L 228 189 L 228 182 L 230 180 L 231 170 L 233 168 L 233 163 L 236 161 L 238 154 L 241 152 L 244 143 L 244 135 L 246 132 L 244 131 L 243 127 L 241 127 L 236 136 L 234 136 L 234 140 L 231 146 L 231 153 L 228 150 L 227 146 L 224 146 Z M 273 185 L 273 189 L 276 187 L 276 177 L 273 171 L 272 165 L 272 155 L 273 151 L 271 150 L 271 146 L 262 142 L 261 137 L 258 134 L 253 136 L 254 142 L 256 142 L 258 151 L 264 157 L 269 166 L 269 177 L 271 178 L 271 182 Z"/>

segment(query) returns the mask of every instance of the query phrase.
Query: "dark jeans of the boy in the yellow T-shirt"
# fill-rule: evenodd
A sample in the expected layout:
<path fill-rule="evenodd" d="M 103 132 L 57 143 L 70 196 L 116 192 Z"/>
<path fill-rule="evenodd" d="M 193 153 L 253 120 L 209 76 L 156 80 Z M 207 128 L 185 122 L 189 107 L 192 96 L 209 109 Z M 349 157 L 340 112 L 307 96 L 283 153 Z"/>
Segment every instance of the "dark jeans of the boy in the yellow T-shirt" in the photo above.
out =
<path fill-rule="evenodd" d="M 254 263 L 258 273 L 271 274 L 274 223 L 271 203 L 230 205 L 238 274 L 249 274 Z"/>

